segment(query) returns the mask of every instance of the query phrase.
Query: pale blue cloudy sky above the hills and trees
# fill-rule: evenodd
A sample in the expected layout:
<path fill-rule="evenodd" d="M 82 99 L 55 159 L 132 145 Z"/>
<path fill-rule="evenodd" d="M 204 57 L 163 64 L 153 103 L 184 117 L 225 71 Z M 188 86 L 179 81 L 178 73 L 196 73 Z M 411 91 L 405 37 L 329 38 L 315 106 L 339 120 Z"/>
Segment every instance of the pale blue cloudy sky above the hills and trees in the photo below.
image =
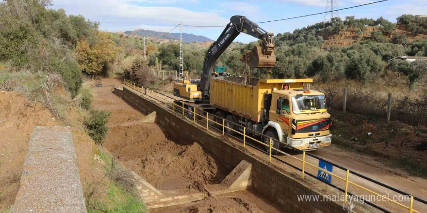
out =
<path fill-rule="evenodd" d="M 339 0 L 339 8 L 375 0 Z M 67 14 L 84 15 L 100 22 L 101 30 L 156 30 L 169 31 L 179 22 L 187 25 L 226 25 L 232 15 L 245 15 L 254 22 L 324 12 L 327 0 L 54 0 L 55 9 Z M 427 14 L 426 0 L 389 0 L 386 2 L 340 11 L 345 18 L 378 18 L 383 16 L 395 22 L 401 14 Z M 268 32 L 293 31 L 322 21 L 324 15 L 314 15 L 286 21 L 260 24 Z M 183 32 L 203 35 L 215 40 L 224 28 L 183 27 Z M 179 32 L 179 28 L 173 32 Z M 243 34 L 243 33 L 242 33 Z M 236 41 L 255 39 L 240 35 Z"/>

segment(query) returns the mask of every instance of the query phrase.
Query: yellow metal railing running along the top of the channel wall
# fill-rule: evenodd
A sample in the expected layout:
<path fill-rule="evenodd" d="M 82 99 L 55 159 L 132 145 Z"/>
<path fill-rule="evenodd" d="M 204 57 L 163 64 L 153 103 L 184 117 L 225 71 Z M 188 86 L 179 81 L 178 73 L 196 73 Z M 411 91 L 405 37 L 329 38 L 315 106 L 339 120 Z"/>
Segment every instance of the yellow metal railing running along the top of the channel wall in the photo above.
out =
<path fill-rule="evenodd" d="M 222 134 L 223 136 L 227 135 L 228 137 L 232 137 L 233 139 L 242 142 L 244 148 L 251 147 L 267 154 L 267 159 L 270 163 L 279 162 L 295 168 L 301 172 L 302 179 L 306 179 L 307 176 L 309 176 L 311 178 L 317 179 L 320 182 L 326 183 L 327 185 L 343 193 L 342 195 L 344 200 L 342 201 L 350 204 L 350 206 L 351 200 L 349 199 L 358 198 L 363 199 L 364 203 L 384 213 L 395 212 L 391 210 L 389 204 L 397 206 L 400 209 L 399 212 L 403 210 L 409 213 L 421 213 L 420 211 L 414 210 L 415 206 L 419 209 L 427 209 L 427 201 L 424 199 L 411 196 L 406 192 L 378 182 L 345 167 L 331 163 L 309 152 L 296 150 L 292 146 L 286 143 L 281 143 L 272 137 L 265 136 L 261 133 L 254 134 L 255 132 L 250 129 L 246 129 L 246 126 L 242 126 L 238 123 L 230 122 L 224 118 L 217 117 L 213 114 L 198 109 L 197 106 L 189 106 L 186 103 L 178 101 L 174 97 L 169 97 L 168 95 L 159 91 L 142 87 L 126 79 L 124 84 L 124 87 L 134 91 L 139 96 L 147 99 L 148 101 L 151 101 L 152 103 L 164 107 L 166 110 L 170 110 L 177 116 L 181 116 L 183 119 L 187 119 L 189 122 L 193 122 L 199 125 L 199 127 L 205 129 L 208 132 Z M 237 127 L 240 127 L 240 129 L 243 129 L 243 131 L 237 131 Z M 297 152 L 297 154 L 295 155 L 283 152 L 280 150 L 280 148 L 275 148 L 273 145 L 275 143 L 281 144 L 282 147 L 293 149 L 295 152 Z M 273 152 L 277 152 L 277 154 L 273 154 Z M 320 162 L 326 162 L 329 165 L 332 165 L 332 170 L 316 166 L 319 165 Z M 334 168 L 335 170 L 332 172 Z M 328 174 L 330 178 L 333 178 L 334 180 L 331 180 L 329 183 L 319 178 L 319 174 L 321 172 Z M 392 197 L 390 195 L 392 195 Z M 369 198 L 369 196 L 375 196 L 377 199 L 365 199 Z M 403 196 L 403 198 L 406 199 L 395 199 L 401 198 L 395 196 Z"/>

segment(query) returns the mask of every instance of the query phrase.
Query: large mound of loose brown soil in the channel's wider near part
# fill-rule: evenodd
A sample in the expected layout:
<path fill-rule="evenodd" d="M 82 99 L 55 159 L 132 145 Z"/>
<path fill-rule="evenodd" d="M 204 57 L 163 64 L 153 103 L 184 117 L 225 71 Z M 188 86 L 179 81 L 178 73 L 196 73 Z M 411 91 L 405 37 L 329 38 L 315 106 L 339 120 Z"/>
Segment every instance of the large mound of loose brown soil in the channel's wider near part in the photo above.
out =
<path fill-rule="evenodd" d="M 104 146 L 159 190 L 200 188 L 227 174 L 198 143 L 168 140 L 155 123 L 115 125 Z"/>

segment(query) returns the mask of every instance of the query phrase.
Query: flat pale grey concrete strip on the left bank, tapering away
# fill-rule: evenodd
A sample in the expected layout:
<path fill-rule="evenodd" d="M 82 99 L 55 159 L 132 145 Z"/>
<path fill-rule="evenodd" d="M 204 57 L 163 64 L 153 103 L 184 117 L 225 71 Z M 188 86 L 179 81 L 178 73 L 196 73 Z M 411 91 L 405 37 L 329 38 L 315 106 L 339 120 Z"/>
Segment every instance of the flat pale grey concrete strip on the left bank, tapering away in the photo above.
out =
<path fill-rule="evenodd" d="M 86 213 L 70 127 L 34 128 L 13 213 Z"/>

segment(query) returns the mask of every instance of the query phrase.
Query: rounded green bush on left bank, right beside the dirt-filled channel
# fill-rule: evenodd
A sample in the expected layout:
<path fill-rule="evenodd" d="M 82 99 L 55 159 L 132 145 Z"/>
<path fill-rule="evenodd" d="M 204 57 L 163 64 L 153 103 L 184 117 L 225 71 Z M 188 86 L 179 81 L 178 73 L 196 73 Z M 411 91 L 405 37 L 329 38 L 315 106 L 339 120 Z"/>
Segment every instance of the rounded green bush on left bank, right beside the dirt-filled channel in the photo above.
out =
<path fill-rule="evenodd" d="M 102 140 L 107 136 L 109 130 L 107 121 L 110 115 L 110 112 L 92 109 L 90 110 L 90 117 L 83 122 L 87 129 L 87 134 L 99 144 L 101 144 Z"/>

